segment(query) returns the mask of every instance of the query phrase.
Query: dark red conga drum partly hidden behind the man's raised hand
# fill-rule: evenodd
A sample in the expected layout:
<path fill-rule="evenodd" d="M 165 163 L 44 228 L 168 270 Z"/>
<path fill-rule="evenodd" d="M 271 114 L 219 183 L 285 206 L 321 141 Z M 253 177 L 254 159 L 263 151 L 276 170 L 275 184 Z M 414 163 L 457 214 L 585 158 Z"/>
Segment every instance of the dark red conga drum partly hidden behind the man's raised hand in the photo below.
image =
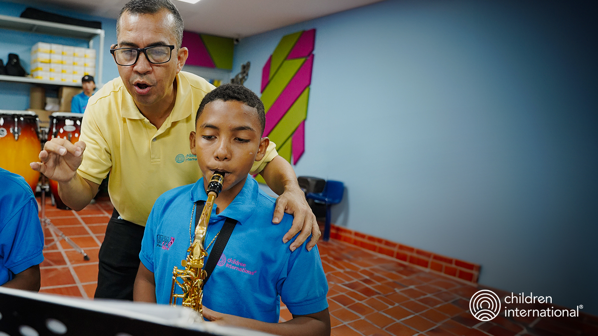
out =
<path fill-rule="evenodd" d="M 50 114 L 48 141 L 54 138 L 67 139 L 71 143 L 79 141 L 81 121 L 83 121 L 83 114 L 80 113 L 54 112 Z M 58 182 L 50 180 L 50 191 L 58 209 L 69 209 L 58 196 Z"/>

